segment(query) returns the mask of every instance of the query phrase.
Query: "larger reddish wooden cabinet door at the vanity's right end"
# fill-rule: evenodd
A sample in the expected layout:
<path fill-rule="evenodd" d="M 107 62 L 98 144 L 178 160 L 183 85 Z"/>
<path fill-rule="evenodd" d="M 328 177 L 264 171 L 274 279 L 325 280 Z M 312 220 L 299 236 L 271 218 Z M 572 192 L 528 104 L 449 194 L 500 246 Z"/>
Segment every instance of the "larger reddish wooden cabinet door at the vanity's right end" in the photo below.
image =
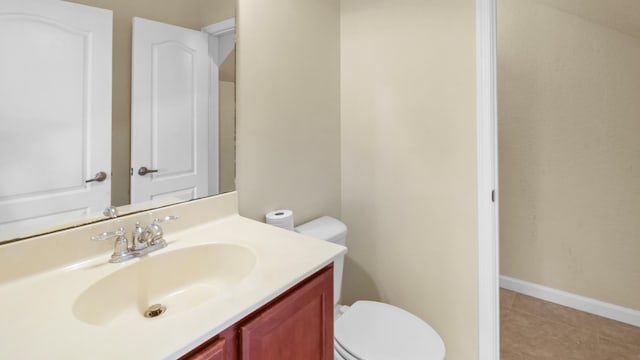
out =
<path fill-rule="evenodd" d="M 240 326 L 240 359 L 333 360 L 333 268 Z"/>

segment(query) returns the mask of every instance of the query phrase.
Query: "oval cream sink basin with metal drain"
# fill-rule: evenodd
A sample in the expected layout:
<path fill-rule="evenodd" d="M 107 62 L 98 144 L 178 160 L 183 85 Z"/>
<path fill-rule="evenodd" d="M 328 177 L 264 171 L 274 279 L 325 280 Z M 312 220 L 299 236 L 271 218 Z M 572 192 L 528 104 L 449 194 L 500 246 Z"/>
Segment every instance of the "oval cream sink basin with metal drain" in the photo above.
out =
<path fill-rule="evenodd" d="M 255 264 L 250 249 L 224 243 L 146 256 L 88 287 L 75 301 L 73 314 L 101 326 L 134 319 L 157 321 L 144 317 L 151 305 L 166 307 L 158 319 L 192 309 L 227 294 Z"/>

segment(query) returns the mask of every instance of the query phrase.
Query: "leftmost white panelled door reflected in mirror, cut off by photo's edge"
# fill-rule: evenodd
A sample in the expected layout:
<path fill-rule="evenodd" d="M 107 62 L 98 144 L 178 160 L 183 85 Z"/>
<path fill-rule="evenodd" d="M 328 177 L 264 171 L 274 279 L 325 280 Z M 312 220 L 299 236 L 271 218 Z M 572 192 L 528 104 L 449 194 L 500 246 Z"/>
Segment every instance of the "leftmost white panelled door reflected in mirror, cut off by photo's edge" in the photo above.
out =
<path fill-rule="evenodd" d="M 109 10 L 0 1 L 1 234 L 109 206 L 111 33 Z"/>

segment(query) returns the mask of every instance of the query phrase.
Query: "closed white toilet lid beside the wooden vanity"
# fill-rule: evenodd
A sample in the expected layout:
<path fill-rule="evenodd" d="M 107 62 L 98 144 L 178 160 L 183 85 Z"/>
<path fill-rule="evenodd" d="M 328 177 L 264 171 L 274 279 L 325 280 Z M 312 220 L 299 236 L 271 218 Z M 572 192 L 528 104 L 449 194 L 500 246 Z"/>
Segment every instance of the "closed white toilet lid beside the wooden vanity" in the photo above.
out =
<path fill-rule="evenodd" d="M 357 301 L 335 323 L 335 340 L 363 360 L 443 360 L 442 339 L 424 321 L 395 306 Z"/>

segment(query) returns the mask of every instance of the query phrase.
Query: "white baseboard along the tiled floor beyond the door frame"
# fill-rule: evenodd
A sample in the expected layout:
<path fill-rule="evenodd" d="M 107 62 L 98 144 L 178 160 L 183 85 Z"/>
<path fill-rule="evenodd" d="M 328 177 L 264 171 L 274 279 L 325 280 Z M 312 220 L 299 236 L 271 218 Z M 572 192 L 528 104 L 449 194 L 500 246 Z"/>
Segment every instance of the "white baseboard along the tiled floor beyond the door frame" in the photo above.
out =
<path fill-rule="evenodd" d="M 500 287 L 640 327 L 640 311 L 500 275 Z"/>

